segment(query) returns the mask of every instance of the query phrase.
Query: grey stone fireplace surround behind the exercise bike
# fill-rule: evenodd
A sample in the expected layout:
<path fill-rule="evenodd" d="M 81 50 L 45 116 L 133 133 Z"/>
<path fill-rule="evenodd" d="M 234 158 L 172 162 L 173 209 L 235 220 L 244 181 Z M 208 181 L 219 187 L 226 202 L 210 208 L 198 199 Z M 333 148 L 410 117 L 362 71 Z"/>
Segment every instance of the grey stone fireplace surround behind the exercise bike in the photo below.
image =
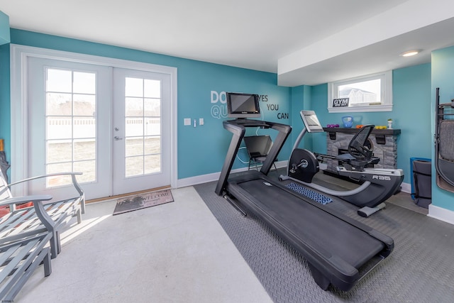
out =
<path fill-rule="evenodd" d="M 354 133 L 336 132 L 336 140 L 331 140 L 329 133 L 326 134 L 326 152 L 328 155 L 339 155 L 339 149 L 348 150 L 348 143 Z M 372 145 L 373 155 L 380 158 L 380 162 L 374 165 L 375 168 L 397 168 L 397 136 L 385 136 L 385 143 L 378 144 L 374 134 L 369 136 Z M 337 160 L 327 161 L 327 170 L 336 172 Z"/>

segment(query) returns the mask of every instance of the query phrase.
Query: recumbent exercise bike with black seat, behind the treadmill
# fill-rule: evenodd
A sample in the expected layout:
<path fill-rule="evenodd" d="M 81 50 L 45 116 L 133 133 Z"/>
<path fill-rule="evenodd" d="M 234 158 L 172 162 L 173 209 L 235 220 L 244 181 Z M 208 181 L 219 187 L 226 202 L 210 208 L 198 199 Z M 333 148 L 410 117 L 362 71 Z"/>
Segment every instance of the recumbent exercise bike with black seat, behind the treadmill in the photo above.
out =
<path fill-rule="evenodd" d="M 336 197 L 362 207 L 358 210 L 360 216 L 370 216 L 383 209 L 383 203 L 391 197 L 404 180 L 404 171 L 401 169 L 367 168 L 369 164 L 377 164 L 380 158 L 372 157 L 372 151 L 365 143 L 374 126 L 367 125 L 360 128 L 348 144 L 348 153 L 338 156 L 311 153 L 306 149 L 298 148 L 299 143 L 306 133 L 323 132 L 319 119 L 314 111 L 300 111 L 304 128 L 299 133 L 293 146 L 292 155 L 288 163 L 287 176 L 279 176 L 279 180 L 293 180 L 320 192 Z M 348 177 L 360 185 L 355 189 L 339 191 L 328 189 L 312 182 L 314 175 L 319 172 L 319 161 L 333 159 L 342 162 L 337 167 L 338 175 Z"/>

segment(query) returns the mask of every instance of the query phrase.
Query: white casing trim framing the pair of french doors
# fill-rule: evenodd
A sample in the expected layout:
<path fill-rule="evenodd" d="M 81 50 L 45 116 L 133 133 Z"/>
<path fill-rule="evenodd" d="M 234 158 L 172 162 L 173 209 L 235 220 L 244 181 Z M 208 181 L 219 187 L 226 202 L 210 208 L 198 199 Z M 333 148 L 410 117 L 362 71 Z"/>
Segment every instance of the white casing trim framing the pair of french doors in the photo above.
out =
<path fill-rule="evenodd" d="M 177 187 L 177 67 L 154 65 L 145 62 L 121 60 L 110 57 L 84 55 L 46 48 L 11 44 L 11 181 L 28 177 L 28 124 L 27 79 L 28 58 L 39 57 L 92 65 L 120 67 L 170 75 L 171 90 L 171 177 L 170 186 Z M 14 194 L 25 194 L 26 188 L 18 187 Z"/>

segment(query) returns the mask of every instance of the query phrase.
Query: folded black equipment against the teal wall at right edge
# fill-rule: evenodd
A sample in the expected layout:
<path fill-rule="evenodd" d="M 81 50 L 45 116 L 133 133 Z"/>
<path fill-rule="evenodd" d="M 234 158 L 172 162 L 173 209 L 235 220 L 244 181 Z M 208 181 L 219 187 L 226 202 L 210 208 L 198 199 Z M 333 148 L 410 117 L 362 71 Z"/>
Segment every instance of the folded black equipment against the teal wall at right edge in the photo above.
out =
<path fill-rule="evenodd" d="M 436 88 L 435 168 L 438 187 L 454 192 L 454 99 L 440 104 Z"/>

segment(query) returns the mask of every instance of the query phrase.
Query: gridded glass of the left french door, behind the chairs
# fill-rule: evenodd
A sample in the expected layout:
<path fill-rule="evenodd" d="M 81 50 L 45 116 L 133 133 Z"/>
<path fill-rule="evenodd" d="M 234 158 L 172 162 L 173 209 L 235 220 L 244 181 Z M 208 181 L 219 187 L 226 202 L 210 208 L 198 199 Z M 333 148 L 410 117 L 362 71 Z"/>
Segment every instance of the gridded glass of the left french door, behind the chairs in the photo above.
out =
<path fill-rule="evenodd" d="M 83 172 L 79 182 L 96 180 L 96 73 L 46 69 L 46 173 Z M 47 186 L 71 184 L 71 177 Z"/>

